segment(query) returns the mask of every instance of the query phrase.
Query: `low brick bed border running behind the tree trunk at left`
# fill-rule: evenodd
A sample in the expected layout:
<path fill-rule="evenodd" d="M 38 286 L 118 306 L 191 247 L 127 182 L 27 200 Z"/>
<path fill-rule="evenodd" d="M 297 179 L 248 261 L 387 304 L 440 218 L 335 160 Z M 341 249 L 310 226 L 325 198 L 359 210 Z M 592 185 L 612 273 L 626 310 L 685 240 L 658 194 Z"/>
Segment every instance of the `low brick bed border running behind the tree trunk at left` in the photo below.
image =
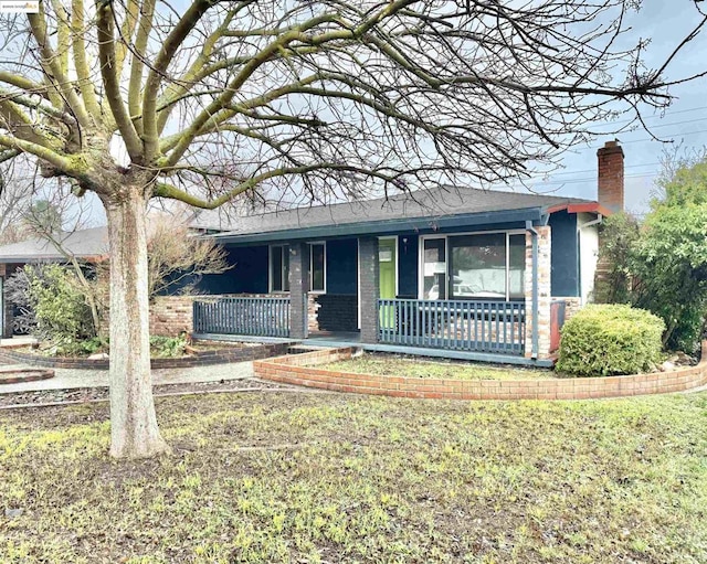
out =
<path fill-rule="evenodd" d="M 254 361 L 267 359 L 281 354 L 287 354 L 293 343 L 266 343 L 254 347 L 228 348 L 221 350 L 200 352 L 194 357 L 183 357 L 180 359 L 152 359 L 152 369 L 183 369 L 191 366 L 207 366 L 210 364 L 226 364 L 231 362 Z M 64 357 L 40 357 L 21 352 L 11 348 L 0 349 L 0 359 L 11 362 L 30 364 L 32 366 L 45 366 L 53 369 L 84 369 L 84 370 L 108 370 L 107 360 L 88 360 Z"/>

